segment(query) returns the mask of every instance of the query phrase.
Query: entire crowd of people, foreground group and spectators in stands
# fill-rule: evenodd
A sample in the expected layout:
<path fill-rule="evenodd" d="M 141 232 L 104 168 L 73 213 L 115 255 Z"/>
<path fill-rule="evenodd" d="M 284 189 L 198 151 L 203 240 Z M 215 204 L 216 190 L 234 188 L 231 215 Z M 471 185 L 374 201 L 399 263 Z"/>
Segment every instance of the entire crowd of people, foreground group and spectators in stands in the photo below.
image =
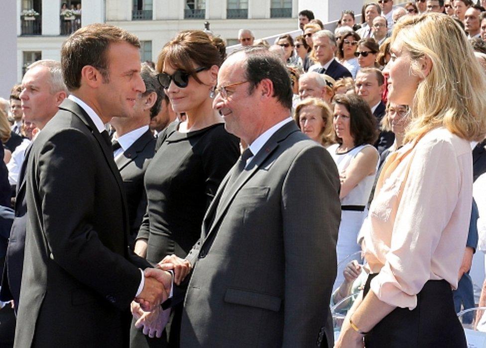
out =
<path fill-rule="evenodd" d="M 466 347 L 484 5 L 379 0 L 334 32 L 303 10 L 228 57 L 185 30 L 142 64 L 77 30 L 0 100 L 0 341 Z"/>

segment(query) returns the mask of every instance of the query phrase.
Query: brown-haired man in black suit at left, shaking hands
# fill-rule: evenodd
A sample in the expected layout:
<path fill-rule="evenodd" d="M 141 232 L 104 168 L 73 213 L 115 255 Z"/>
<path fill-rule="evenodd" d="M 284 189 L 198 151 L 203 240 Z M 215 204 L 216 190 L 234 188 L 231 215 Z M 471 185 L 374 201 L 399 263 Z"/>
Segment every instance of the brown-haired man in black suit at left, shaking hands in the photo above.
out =
<path fill-rule="evenodd" d="M 104 126 L 128 117 L 145 91 L 138 49 L 135 36 L 104 24 L 63 44 L 71 95 L 34 141 L 25 172 L 15 347 L 124 347 L 130 302 L 155 306 L 170 287 L 144 276 L 147 263 L 129 253 L 122 180 Z"/>

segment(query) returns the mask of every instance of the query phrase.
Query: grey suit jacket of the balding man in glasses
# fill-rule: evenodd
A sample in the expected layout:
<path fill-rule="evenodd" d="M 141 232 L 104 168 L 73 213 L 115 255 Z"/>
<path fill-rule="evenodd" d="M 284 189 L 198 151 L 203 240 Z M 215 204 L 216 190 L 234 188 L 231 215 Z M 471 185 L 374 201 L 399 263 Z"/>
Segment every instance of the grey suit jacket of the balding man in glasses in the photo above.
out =
<path fill-rule="evenodd" d="M 334 161 L 289 122 L 228 184 L 233 172 L 187 256 L 194 269 L 181 346 L 332 347 L 325 327 L 341 218 Z"/>

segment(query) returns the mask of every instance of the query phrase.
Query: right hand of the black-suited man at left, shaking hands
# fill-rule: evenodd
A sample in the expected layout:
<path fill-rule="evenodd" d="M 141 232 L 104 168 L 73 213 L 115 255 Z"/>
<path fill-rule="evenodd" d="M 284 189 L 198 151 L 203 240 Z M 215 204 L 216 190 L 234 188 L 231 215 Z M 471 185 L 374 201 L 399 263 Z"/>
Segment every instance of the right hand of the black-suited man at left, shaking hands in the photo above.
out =
<path fill-rule="evenodd" d="M 172 274 L 155 268 L 147 268 L 143 274 L 143 289 L 135 301 L 144 311 L 150 311 L 168 298 L 172 287 Z"/>

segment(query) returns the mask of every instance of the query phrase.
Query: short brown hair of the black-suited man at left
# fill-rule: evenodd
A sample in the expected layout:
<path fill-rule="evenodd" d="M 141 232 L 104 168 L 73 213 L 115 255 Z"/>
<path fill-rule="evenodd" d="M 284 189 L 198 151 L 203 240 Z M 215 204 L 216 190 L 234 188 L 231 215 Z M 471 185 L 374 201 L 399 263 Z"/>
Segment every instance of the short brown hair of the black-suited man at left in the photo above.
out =
<path fill-rule="evenodd" d="M 140 48 L 138 38 L 119 27 L 90 24 L 69 36 L 61 48 L 64 83 L 69 90 L 81 87 L 81 70 L 87 65 L 96 68 L 109 81 L 107 52 L 111 43 L 126 42 Z"/>

